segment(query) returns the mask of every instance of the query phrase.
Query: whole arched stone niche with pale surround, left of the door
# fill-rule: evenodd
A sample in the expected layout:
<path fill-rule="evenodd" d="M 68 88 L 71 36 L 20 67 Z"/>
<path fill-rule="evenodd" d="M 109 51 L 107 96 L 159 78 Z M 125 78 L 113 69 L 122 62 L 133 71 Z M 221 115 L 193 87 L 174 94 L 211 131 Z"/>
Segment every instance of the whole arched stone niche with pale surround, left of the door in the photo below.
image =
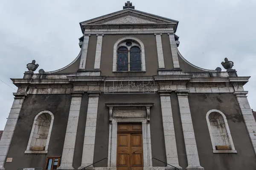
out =
<path fill-rule="evenodd" d="M 54 116 L 43 111 L 35 116 L 25 153 L 47 153 Z"/>

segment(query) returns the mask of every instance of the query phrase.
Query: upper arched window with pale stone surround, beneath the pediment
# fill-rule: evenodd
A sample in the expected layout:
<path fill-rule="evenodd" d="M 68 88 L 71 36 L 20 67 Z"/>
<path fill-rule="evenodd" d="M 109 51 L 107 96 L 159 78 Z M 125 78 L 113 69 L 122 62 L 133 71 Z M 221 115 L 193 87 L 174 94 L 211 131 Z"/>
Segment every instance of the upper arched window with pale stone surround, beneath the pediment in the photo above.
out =
<path fill-rule="evenodd" d="M 146 71 L 143 43 L 135 37 L 124 37 L 114 45 L 113 72 Z"/>

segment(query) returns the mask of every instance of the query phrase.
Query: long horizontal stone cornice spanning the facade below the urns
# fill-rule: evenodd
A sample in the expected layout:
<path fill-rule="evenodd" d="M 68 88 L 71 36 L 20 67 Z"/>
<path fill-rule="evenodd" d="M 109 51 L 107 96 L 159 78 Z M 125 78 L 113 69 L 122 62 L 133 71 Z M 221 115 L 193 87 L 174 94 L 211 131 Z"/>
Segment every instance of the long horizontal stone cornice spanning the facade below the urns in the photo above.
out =
<path fill-rule="evenodd" d="M 53 76 L 53 75 L 52 75 Z M 59 78 L 58 78 L 59 77 Z M 133 76 L 133 77 L 105 77 L 105 76 L 84 76 L 84 75 L 56 75 L 56 78 L 12 78 L 16 86 L 44 86 L 44 85 L 72 85 L 86 82 L 111 82 L 111 81 L 155 81 L 156 83 L 174 82 L 179 84 L 209 84 L 209 83 L 231 83 L 233 86 L 243 86 L 250 77 L 201 77 L 195 78 L 192 75 L 155 75 L 155 76 Z"/>

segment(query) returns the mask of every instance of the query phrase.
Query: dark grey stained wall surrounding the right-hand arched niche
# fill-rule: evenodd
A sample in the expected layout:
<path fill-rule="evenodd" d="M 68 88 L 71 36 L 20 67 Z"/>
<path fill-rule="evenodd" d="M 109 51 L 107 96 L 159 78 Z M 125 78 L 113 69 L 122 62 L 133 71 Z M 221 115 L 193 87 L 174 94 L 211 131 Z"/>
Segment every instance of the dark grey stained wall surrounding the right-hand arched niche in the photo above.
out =
<path fill-rule="evenodd" d="M 201 166 L 205 170 L 255 170 L 256 155 L 239 109 L 230 93 L 189 94 L 189 106 Z M 206 114 L 218 109 L 227 117 L 237 153 L 212 153 Z"/>

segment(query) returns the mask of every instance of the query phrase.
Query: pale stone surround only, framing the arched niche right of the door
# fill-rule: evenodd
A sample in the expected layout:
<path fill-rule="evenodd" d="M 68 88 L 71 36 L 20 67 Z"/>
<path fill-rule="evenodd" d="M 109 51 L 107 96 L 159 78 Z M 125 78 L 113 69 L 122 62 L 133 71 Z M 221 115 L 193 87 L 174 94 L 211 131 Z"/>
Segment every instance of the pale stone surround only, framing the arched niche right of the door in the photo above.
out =
<path fill-rule="evenodd" d="M 218 112 L 218 113 L 220 113 L 221 116 L 223 117 L 224 124 L 225 124 L 226 131 L 227 131 L 227 136 L 228 136 L 229 141 L 230 141 L 231 150 L 216 150 L 216 148 L 215 148 L 215 143 L 214 143 L 214 137 L 213 137 L 213 135 L 212 135 L 212 127 L 211 127 L 211 124 L 210 124 L 210 121 L 209 121 L 209 115 L 210 115 L 212 112 Z M 232 139 L 231 133 L 230 133 L 230 129 L 229 129 L 229 126 L 228 126 L 228 123 L 227 123 L 227 118 L 226 118 L 226 116 L 224 115 L 224 113 L 221 112 L 221 111 L 219 111 L 219 110 L 217 110 L 217 109 L 209 110 L 209 111 L 207 112 L 207 114 L 206 114 L 206 121 L 207 121 L 208 130 L 209 130 L 209 134 L 210 134 L 210 138 L 211 138 L 213 153 L 237 153 L 237 151 L 236 151 L 236 149 L 235 149 L 235 146 L 234 146 L 234 143 L 233 143 L 233 139 Z"/>

